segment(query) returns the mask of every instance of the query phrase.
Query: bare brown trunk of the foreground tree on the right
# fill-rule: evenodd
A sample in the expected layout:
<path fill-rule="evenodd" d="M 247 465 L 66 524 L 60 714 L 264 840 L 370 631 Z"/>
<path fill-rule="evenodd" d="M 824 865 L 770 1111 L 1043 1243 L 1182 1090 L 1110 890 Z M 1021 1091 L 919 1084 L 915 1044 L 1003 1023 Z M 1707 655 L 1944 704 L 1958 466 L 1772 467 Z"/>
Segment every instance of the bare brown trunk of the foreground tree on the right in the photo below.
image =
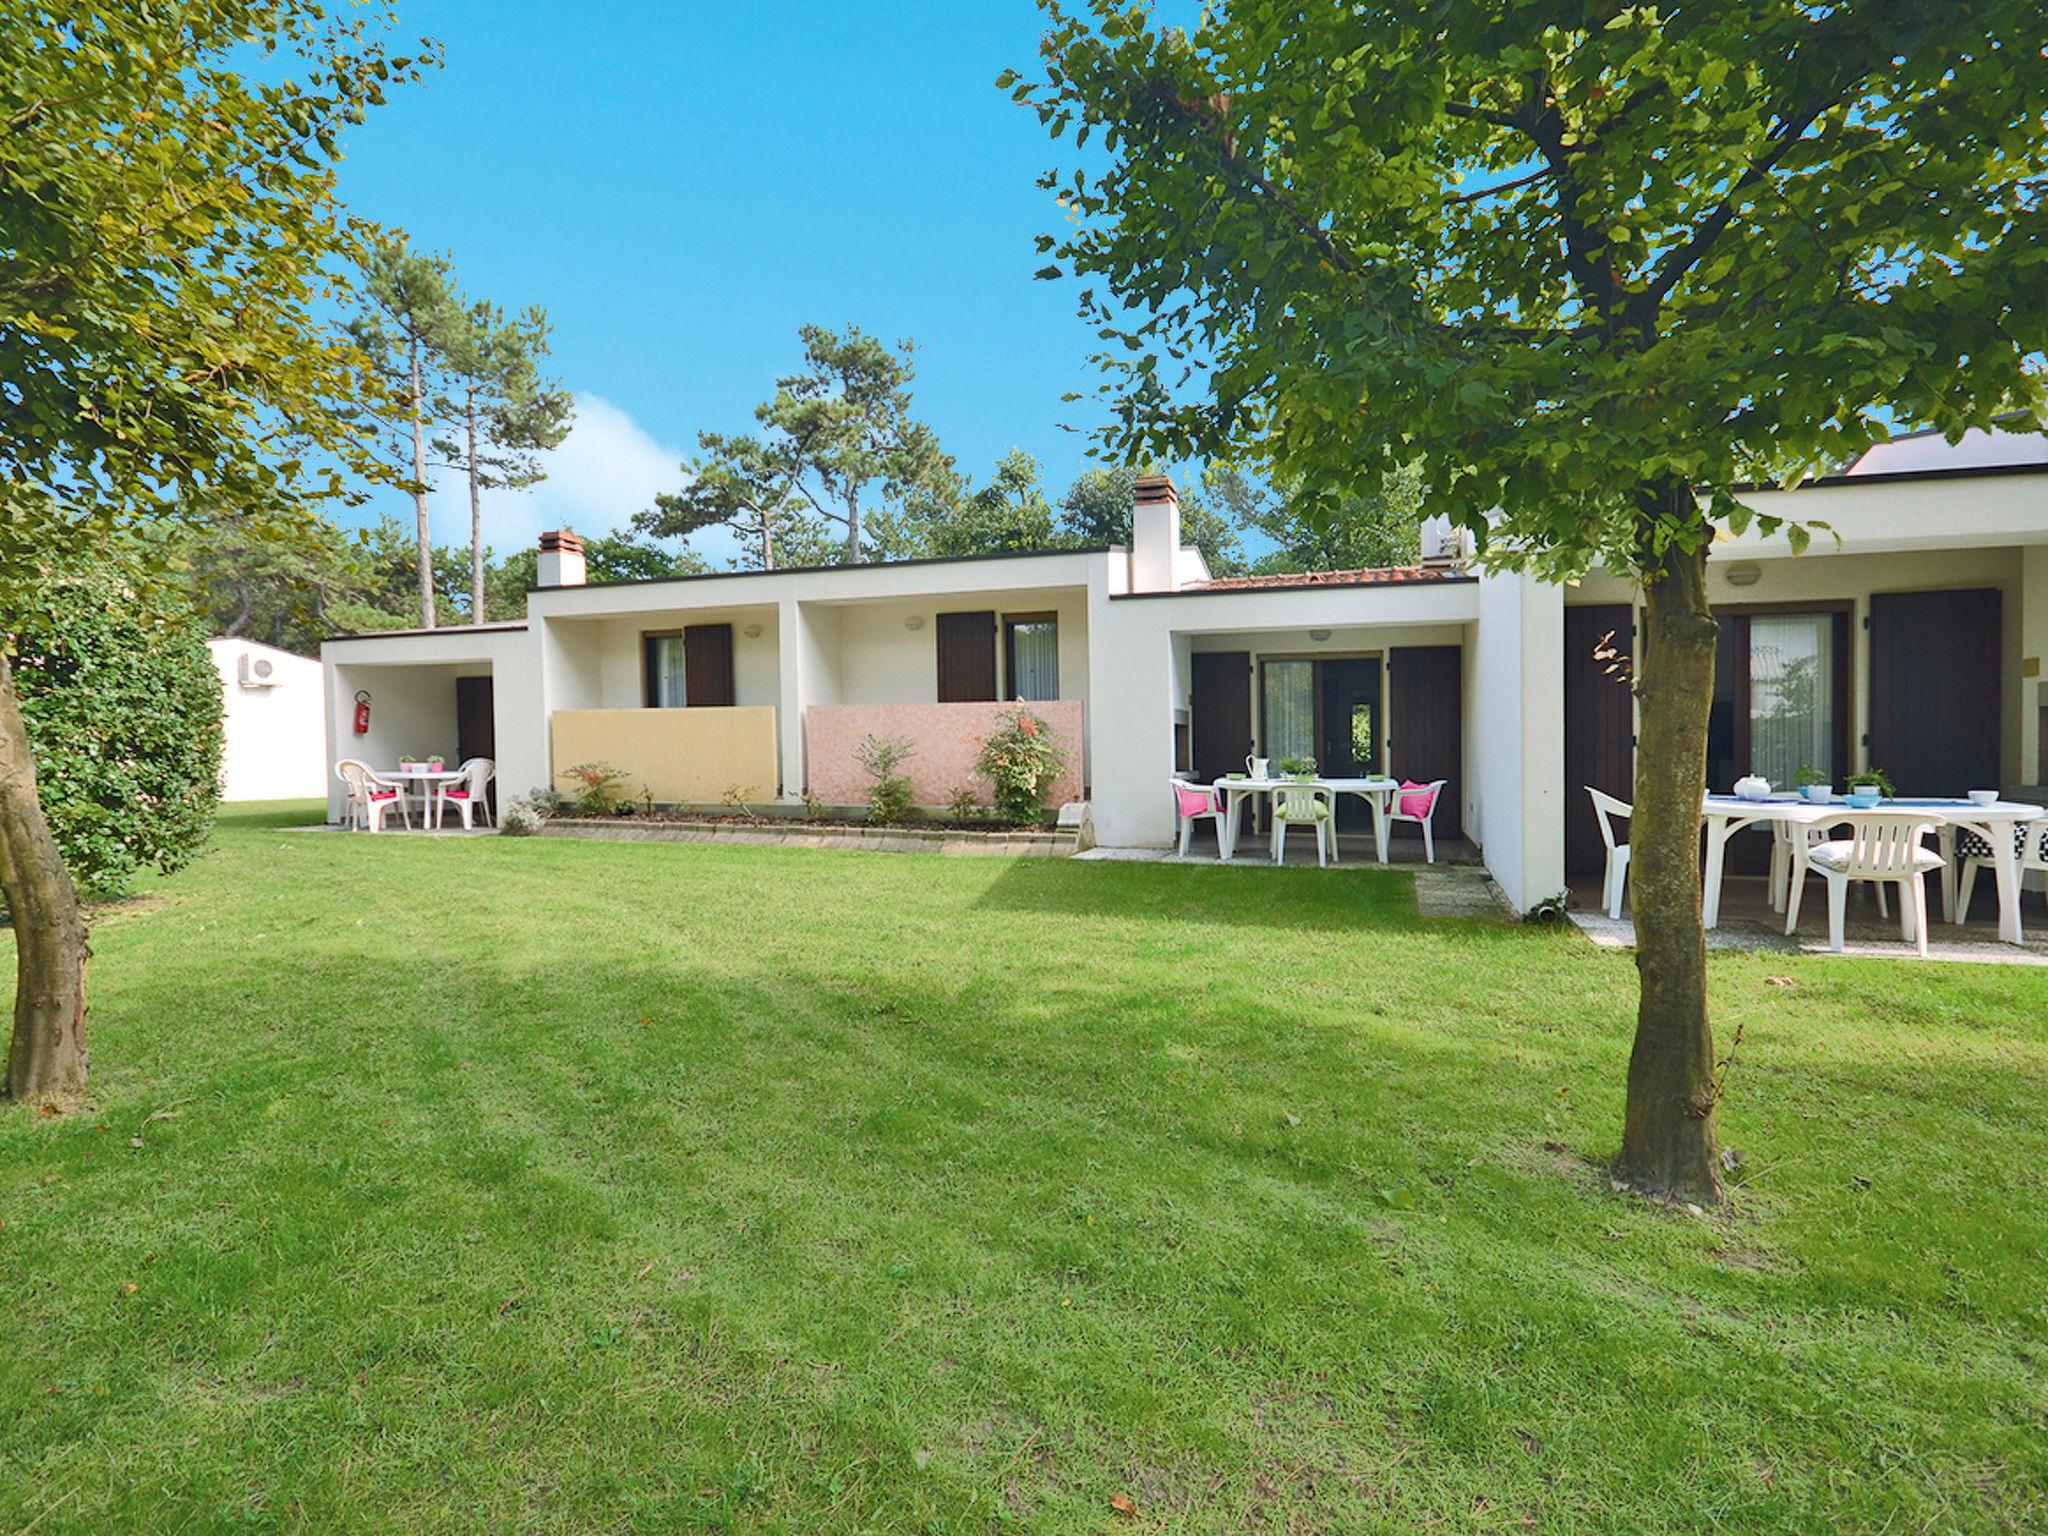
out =
<path fill-rule="evenodd" d="M 1698 520 L 1690 487 L 1665 487 L 1659 500 Z M 1722 1188 L 1700 924 L 1700 797 L 1718 625 L 1706 600 L 1712 530 L 1702 524 L 1700 532 L 1692 553 L 1673 547 L 1655 561 L 1645 557 L 1636 809 L 1628 823 L 1640 997 L 1618 1174 L 1651 1194 L 1712 1204 Z"/>

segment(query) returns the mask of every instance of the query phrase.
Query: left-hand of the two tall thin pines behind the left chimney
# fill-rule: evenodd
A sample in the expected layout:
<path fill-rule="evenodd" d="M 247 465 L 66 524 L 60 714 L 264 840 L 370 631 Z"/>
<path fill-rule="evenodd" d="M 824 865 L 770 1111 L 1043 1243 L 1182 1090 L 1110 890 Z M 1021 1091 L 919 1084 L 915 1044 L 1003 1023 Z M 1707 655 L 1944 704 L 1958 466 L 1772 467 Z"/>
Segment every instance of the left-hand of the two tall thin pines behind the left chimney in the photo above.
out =
<path fill-rule="evenodd" d="M 434 627 L 434 535 L 428 502 L 428 446 L 457 420 L 449 354 L 463 342 L 467 315 L 444 254 L 414 250 L 403 233 L 373 233 L 360 262 L 360 311 L 348 334 L 371 360 L 383 410 L 365 410 L 387 465 L 412 496 L 420 629 Z"/>

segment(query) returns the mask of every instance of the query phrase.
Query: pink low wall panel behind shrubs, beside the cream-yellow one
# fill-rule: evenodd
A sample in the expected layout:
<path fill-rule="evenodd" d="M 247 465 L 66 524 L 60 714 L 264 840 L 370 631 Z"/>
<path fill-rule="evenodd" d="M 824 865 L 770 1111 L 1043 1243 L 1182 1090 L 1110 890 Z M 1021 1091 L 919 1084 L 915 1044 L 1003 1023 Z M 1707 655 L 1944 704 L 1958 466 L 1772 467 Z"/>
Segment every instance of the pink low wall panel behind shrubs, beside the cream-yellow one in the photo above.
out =
<path fill-rule="evenodd" d="M 975 758 L 995 723 L 1028 709 L 1053 727 L 1067 750 L 1067 768 L 1047 805 L 1081 799 L 1081 700 L 1034 705 L 811 705 L 803 711 L 803 750 L 811 793 L 825 805 L 866 805 L 868 776 L 854 750 L 870 735 L 907 735 L 915 754 L 903 764 L 918 805 L 946 805 L 961 784 L 989 803 L 989 780 L 975 778 Z"/>

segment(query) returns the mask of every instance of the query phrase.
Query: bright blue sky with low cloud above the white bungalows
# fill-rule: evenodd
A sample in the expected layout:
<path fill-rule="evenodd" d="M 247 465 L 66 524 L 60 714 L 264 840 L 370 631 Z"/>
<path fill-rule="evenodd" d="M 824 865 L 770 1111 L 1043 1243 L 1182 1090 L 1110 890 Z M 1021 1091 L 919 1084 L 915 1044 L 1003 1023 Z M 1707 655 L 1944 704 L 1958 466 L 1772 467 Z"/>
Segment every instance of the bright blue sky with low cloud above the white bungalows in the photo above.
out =
<path fill-rule="evenodd" d="M 494 498 L 494 547 L 627 522 L 700 428 L 752 424 L 813 319 L 918 338 L 918 410 L 965 473 L 1022 446 L 1057 494 L 1083 465 L 1059 397 L 1094 338 L 1071 285 L 1032 281 L 1034 178 L 1067 145 L 993 86 L 1036 57 L 1030 0 L 401 0 L 401 27 L 446 68 L 352 133 L 344 197 L 469 293 L 545 305 L 582 401 L 549 483 Z M 436 537 L 467 539 L 453 485 Z"/>

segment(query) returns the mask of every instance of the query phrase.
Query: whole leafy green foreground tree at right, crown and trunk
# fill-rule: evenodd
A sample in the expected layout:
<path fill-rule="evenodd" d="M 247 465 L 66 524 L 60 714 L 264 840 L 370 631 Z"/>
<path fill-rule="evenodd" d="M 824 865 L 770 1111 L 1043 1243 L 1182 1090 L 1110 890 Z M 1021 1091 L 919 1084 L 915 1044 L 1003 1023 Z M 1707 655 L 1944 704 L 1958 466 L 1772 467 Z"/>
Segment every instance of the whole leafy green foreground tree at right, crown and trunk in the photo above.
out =
<path fill-rule="evenodd" d="M 1489 563 L 1640 582 L 1618 1171 L 1718 1198 L 1708 547 L 1890 420 L 2042 416 L 2040 0 L 1042 2 L 1004 84 L 1102 143 L 1042 246 L 1110 449 L 1235 446 L 1321 516 L 1419 461 Z"/>

